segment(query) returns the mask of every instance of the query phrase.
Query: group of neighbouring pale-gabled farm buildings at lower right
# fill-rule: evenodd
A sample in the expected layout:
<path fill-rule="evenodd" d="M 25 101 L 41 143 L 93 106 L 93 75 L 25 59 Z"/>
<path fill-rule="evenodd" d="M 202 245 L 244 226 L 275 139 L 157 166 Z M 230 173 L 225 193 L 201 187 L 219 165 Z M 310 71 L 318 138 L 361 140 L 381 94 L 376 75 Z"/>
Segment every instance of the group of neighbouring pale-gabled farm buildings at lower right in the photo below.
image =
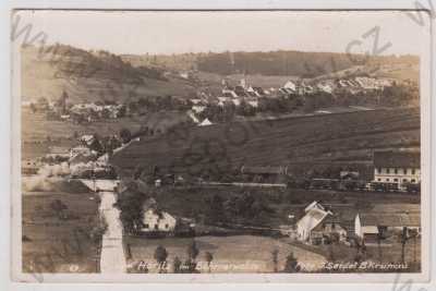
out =
<path fill-rule="evenodd" d="M 379 204 L 353 214 L 311 203 L 304 215 L 289 232 L 291 237 L 308 244 L 323 244 L 336 240 L 347 243 L 355 238 L 366 245 L 391 243 L 395 234 L 421 234 L 421 210 L 419 204 Z"/>

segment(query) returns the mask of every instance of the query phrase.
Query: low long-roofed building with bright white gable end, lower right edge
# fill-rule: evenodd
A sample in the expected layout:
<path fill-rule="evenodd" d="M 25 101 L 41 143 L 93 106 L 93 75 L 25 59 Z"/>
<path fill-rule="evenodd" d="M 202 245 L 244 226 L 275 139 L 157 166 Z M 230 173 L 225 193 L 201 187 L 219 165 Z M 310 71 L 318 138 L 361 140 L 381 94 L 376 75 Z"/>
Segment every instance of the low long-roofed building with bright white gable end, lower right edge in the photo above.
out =
<path fill-rule="evenodd" d="M 379 238 L 385 239 L 393 232 L 408 231 L 421 232 L 420 205 L 390 204 L 377 205 L 371 210 L 356 214 L 354 232 L 366 243 L 376 243 Z"/>

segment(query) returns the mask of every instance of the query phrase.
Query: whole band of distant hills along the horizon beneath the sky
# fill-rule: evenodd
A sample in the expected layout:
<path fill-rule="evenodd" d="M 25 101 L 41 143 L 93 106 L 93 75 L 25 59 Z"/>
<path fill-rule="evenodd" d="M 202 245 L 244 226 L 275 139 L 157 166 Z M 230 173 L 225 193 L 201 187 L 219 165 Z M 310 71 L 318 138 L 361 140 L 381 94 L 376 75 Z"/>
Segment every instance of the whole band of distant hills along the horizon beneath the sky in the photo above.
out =
<path fill-rule="evenodd" d="M 358 60 L 358 61 L 355 61 Z M 149 96 L 196 95 L 198 83 L 177 73 L 195 70 L 203 72 L 204 86 L 219 90 L 223 75 L 323 77 L 353 71 L 371 71 L 375 75 L 417 80 L 419 58 L 389 56 L 352 58 L 346 53 L 270 51 L 270 52 L 208 52 L 173 56 L 123 54 L 104 50 L 84 50 L 65 45 L 38 48 L 26 46 L 21 54 L 22 98 L 36 100 L 46 97 L 57 100 L 68 92 L 71 102 L 118 101 Z M 358 64 L 356 64 L 358 62 Z M 362 69 L 363 68 L 363 69 Z M 206 76 L 211 73 L 215 76 Z M 284 83 L 283 83 L 284 84 Z"/>

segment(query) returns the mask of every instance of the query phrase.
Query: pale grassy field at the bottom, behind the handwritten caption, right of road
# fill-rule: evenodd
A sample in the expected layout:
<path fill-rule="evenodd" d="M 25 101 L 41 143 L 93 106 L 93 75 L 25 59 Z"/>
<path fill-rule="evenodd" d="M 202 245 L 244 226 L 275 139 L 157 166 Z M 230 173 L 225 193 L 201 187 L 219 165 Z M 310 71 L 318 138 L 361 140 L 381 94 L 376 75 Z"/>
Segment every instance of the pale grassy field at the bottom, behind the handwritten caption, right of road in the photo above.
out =
<path fill-rule="evenodd" d="M 130 271 L 135 272 L 135 265 L 144 260 L 150 272 L 156 272 L 154 252 L 162 245 L 168 252 L 169 271 L 171 271 L 174 257 L 182 262 L 187 258 L 186 250 L 193 239 L 167 238 L 144 239 L 126 237 L 125 243 L 130 245 L 132 258 Z M 301 263 L 306 265 L 322 264 L 325 258 L 318 254 L 267 237 L 233 235 L 233 237 L 199 237 L 195 238 L 199 251 L 197 256 L 201 272 L 208 272 L 205 252 L 210 252 L 214 260 L 210 264 L 211 272 L 272 272 L 274 263 L 271 252 L 278 251 L 278 269 L 282 269 L 286 257 L 292 252 Z"/>

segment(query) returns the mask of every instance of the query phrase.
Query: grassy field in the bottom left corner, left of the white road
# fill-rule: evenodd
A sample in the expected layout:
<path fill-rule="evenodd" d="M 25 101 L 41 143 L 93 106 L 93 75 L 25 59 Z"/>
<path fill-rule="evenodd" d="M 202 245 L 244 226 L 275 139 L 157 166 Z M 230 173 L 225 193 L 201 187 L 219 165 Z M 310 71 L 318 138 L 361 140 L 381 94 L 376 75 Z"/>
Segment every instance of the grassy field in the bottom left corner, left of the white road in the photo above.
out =
<path fill-rule="evenodd" d="M 68 209 L 61 219 L 50 207 L 60 199 Z M 100 237 L 98 196 L 92 193 L 25 193 L 23 195 L 23 271 L 97 272 Z"/>

